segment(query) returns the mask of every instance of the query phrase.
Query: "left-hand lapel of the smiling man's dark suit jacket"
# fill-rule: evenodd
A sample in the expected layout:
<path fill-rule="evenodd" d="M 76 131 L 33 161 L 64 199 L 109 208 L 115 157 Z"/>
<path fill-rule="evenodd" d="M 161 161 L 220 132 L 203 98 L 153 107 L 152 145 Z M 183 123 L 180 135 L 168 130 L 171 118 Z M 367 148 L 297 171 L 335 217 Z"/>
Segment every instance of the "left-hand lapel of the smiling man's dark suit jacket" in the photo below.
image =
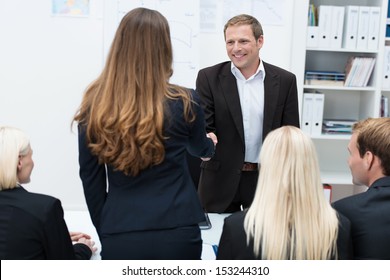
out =
<path fill-rule="evenodd" d="M 244 143 L 244 125 L 242 121 L 240 97 L 238 95 L 236 78 L 230 70 L 230 63 L 225 65 L 223 71 L 219 75 L 219 80 L 226 104 L 228 105 L 242 143 Z"/>

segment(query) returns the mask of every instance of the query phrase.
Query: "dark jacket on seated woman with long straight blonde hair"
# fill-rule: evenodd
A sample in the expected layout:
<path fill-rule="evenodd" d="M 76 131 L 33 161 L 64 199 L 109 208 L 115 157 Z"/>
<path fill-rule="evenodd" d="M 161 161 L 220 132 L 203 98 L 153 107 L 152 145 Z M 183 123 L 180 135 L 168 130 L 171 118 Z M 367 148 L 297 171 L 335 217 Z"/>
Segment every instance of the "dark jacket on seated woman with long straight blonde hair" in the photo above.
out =
<path fill-rule="evenodd" d="M 246 211 L 236 212 L 225 218 L 218 246 L 218 260 L 255 260 L 253 241 L 247 245 L 244 229 Z M 338 259 L 352 258 L 351 223 L 339 214 L 339 234 L 337 238 Z M 257 259 L 261 259 L 261 256 Z"/>

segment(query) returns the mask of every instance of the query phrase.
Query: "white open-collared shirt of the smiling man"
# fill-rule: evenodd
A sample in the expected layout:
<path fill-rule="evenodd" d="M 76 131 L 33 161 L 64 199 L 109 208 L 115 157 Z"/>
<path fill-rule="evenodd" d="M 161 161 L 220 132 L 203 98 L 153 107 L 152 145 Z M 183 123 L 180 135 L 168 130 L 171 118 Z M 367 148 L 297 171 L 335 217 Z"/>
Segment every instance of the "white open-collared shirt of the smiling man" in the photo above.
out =
<path fill-rule="evenodd" d="M 237 80 L 238 94 L 244 124 L 245 162 L 259 162 L 263 138 L 264 78 L 263 62 L 260 61 L 255 74 L 248 79 L 231 63 L 231 70 Z"/>

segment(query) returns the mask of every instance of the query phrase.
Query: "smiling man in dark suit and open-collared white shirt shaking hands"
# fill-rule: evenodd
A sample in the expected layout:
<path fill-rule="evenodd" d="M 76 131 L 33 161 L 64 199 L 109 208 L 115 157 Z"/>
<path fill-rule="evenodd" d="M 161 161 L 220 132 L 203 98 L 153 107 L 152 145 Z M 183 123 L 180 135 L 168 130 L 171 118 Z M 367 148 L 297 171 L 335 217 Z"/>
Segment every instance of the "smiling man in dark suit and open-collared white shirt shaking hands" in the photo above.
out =
<path fill-rule="evenodd" d="M 296 77 L 260 59 L 261 24 L 239 15 L 226 23 L 224 35 L 231 61 L 200 70 L 196 81 L 207 131 L 218 137 L 213 159 L 201 163 L 198 192 L 206 211 L 218 213 L 249 207 L 267 133 L 299 127 Z"/>

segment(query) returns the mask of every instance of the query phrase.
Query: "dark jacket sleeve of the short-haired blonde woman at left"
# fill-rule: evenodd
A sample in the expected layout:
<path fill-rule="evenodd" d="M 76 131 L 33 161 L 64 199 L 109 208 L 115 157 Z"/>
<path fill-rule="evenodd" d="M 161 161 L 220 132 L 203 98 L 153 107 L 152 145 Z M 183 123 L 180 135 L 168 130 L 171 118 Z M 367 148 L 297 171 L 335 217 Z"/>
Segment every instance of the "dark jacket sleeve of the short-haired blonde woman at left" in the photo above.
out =
<path fill-rule="evenodd" d="M 48 206 L 47 217 L 44 221 L 44 240 L 47 259 L 49 260 L 70 260 L 89 259 L 92 255 L 91 250 L 83 246 L 73 246 L 70 239 L 69 230 L 64 220 L 64 211 L 61 202 L 55 199 Z M 75 251 L 76 250 L 76 254 Z"/>

